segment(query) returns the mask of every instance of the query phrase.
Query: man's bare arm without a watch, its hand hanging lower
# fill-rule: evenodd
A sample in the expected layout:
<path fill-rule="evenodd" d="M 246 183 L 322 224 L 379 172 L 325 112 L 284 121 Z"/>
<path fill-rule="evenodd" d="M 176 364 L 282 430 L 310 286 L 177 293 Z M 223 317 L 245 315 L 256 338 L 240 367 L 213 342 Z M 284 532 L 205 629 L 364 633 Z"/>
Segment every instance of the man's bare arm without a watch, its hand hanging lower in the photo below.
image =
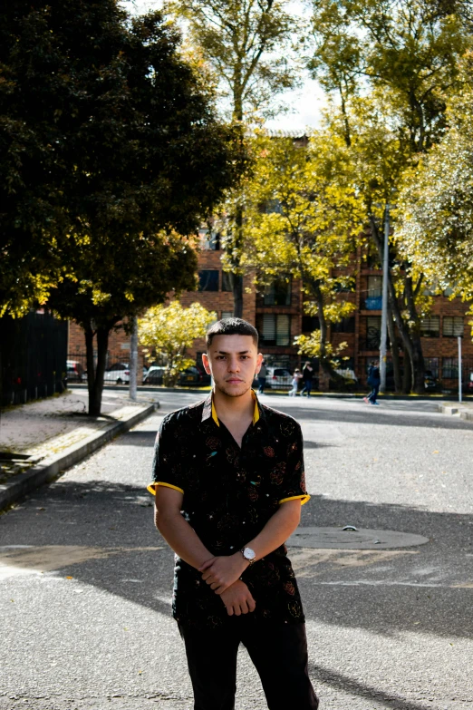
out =
<path fill-rule="evenodd" d="M 181 559 L 191 567 L 198 569 L 206 561 L 213 559 L 213 555 L 198 537 L 197 532 L 184 520 L 180 514 L 183 495 L 167 486 L 156 487 L 154 521 L 159 532 Z M 240 557 L 243 559 L 242 555 Z M 229 616 L 240 616 L 248 611 L 255 611 L 256 603 L 245 582 L 238 577 L 235 584 L 228 585 L 222 601 L 227 608 Z"/>

